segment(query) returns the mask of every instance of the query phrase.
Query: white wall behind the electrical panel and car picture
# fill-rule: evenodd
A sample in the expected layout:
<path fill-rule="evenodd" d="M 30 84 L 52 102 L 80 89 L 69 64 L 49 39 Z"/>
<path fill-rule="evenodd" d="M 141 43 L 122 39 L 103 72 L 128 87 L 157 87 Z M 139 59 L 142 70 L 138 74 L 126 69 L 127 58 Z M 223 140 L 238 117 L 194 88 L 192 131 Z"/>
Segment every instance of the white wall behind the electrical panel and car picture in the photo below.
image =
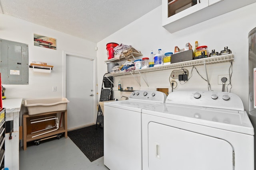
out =
<path fill-rule="evenodd" d="M 51 74 L 34 73 L 32 68 L 29 68 L 28 85 L 3 84 L 6 88 L 6 98 L 35 99 L 62 97 L 63 51 L 82 56 L 96 57 L 96 51 L 94 50 L 96 43 L 4 14 L 0 14 L 0 23 L 1 39 L 28 44 L 29 64 L 32 61 L 40 61 L 54 66 Z M 34 46 L 34 33 L 55 38 L 57 43 L 56 50 Z M 57 86 L 57 92 L 52 92 L 52 86 Z"/>

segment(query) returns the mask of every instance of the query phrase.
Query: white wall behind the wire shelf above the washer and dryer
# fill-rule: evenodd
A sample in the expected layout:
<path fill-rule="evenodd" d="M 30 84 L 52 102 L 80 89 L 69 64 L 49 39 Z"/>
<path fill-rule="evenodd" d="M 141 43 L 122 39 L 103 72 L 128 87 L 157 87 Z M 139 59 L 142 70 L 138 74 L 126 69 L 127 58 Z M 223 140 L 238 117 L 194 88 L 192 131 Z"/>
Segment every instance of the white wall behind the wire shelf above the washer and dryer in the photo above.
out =
<path fill-rule="evenodd" d="M 194 49 L 195 41 L 198 41 L 199 46 L 207 45 L 209 51 L 215 49 L 215 51 L 220 52 L 224 47 L 228 46 L 235 57 L 233 62 L 231 92 L 242 98 L 244 107 L 248 110 L 248 33 L 251 29 L 256 27 L 255 9 L 256 3 L 193 25 L 181 31 L 170 33 L 162 27 L 162 6 L 159 6 L 97 43 L 98 82 L 102 82 L 102 76 L 107 70 L 107 66 L 104 63 L 104 61 L 107 60 L 106 43 L 116 42 L 119 44 L 132 45 L 135 49 L 141 51 L 143 57 L 149 57 L 152 49 L 154 53 L 156 53 L 158 48 L 162 48 L 164 52 L 174 52 L 175 46 L 183 48 L 188 42 L 192 44 Z M 122 64 L 122 62 L 120 64 Z M 229 67 L 230 63 L 207 65 L 208 78 L 212 90 L 222 90 L 222 85 L 218 84 L 218 75 L 228 74 Z M 196 66 L 196 68 L 200 74 L 206 78 L 204 66 Z M 190 72 L 192 67 L 187 67 L 186 69 Z M 170 88 L 168 79 L 171 71 L 172 70 L 147 72 L 144 76 L 148 81 L 149 87 L 146 86 L 142 78 L 139 78 L 141 82 L 140 89 L 155 90 L 158 87 Z M 192 78 L 184 85 L 178 82 L 178 87 L 175 90 L 208 90 L 207 82 L 198 75 L 196 70 L 192 73 Z M 124 80 L 125 78 L 130 79 L 130 77 L 131 75 L 116 76 L 116 86 L 118 80 Z M 122 86 L 126 87 L 126 84 L 122 84 Z M 134 86 L 138 85 L 134 84 Z M 114 88 L 115 98 L 120 98 L 124 93 L 127 92 L 118 92 L 116 87 Z M 129 94 L 127 93 L 124 96 L 127 95 Z"/>

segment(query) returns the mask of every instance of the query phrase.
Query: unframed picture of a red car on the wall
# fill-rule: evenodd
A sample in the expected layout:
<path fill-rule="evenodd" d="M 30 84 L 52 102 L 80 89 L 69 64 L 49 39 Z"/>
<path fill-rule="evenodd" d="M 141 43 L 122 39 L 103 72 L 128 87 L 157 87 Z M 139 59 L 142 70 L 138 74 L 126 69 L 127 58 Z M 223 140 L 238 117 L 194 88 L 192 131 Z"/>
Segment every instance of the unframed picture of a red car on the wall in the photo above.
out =
<path fill-rule="evenodd" d="M 56 39 L 34 33 L 34 45 L 56 50 Z"/>

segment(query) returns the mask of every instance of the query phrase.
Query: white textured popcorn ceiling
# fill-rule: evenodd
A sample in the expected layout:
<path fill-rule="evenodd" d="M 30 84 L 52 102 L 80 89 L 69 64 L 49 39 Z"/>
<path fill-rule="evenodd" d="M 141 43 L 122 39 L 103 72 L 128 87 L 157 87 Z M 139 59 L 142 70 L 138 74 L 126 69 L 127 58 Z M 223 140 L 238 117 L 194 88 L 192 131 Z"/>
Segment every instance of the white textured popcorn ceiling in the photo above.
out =
<path fill-rule="evenodd" d="M 0 0 L 0 12 L 98 42 L 161 4 L 162 0 Z"/>

